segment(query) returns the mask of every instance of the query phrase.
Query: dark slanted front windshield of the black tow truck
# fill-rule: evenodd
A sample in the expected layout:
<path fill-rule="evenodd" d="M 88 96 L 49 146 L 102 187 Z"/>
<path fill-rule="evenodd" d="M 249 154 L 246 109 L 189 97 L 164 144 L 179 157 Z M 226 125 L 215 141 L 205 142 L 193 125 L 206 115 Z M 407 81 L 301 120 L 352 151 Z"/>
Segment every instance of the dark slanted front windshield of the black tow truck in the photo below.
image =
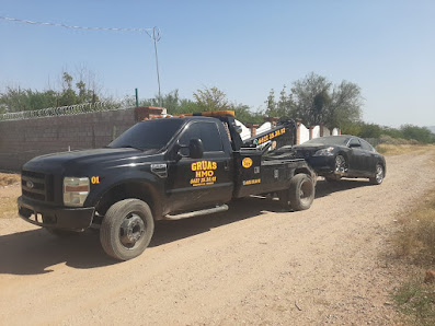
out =
<path fill-rule="evenodd" d="M 141 121 L 129 128 L 107 147 L 160 150 L 167 145 L 182 125 L 183 121 L 175 118 Z"/>

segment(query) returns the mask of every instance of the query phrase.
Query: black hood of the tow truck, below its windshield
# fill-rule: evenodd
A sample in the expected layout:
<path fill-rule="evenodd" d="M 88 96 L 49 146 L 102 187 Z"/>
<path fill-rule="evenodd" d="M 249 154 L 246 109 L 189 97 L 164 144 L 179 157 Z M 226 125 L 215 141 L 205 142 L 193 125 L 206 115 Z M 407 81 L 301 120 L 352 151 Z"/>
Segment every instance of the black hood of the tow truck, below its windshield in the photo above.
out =
<path fill-rule="evenodd" d="M 116 166 L 144 162 L 146 156 L 156 154 L 157 150 L 141 151 L 131 148 L 104 148 L 94 150 L 70 151 L 53 153 L 32 159 L 23 165 L 23 170 L 37 171 L 44 173 L 75 173 L 82 167 L 90 170 L 93 165 L 99 167 Z"/>

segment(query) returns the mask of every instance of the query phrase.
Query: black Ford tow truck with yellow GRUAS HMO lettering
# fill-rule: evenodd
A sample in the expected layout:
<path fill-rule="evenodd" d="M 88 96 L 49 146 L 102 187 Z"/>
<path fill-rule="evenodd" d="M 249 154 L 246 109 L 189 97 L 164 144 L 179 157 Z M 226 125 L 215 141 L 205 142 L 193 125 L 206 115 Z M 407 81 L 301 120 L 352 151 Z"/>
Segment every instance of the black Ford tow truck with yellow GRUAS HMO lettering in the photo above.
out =
<path fill-rule="evenodd" d="M 19 214 L 60 236 L 100 229 L 103 249 L 127 260 L 148 246 L 157 220 L 225 211 L 234 198 L 264 194 L 285 209 L 308 209 L 316 174 L 286 150 L 295 128 L 283 119 L 242 141 L 233 112 L 144 120 L 105 148 L 25 163 Z"/>

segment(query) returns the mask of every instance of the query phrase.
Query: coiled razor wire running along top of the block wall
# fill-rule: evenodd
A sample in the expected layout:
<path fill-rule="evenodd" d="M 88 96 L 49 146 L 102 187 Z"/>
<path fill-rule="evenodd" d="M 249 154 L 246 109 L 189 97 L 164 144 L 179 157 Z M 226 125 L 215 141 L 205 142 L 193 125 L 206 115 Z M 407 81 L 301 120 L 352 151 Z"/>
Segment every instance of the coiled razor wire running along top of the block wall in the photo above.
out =
<path fill-rule="evenodd" d="M 92 113 L 92 112 L 123 109 L 123 108 L 129 108 L 131 106 L 134 106 L 134 104 L 129 98 L 123 101 L 113 101 L 113 102 L 111 101 L 111 102 L 77 104 L 77 105 L 49 107 L 49 108 L 35 109 L 35 110 L 23 110 L 23 112 L 0 114 L 0 121 L 78 115 L 78 114 Z"/>

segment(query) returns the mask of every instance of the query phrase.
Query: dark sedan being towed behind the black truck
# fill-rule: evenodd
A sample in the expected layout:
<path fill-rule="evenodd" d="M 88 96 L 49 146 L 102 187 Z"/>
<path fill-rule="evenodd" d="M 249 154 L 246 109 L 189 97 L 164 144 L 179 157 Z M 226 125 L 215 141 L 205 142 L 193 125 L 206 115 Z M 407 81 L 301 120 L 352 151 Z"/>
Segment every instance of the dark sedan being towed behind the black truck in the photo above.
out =
<path fill-rule="evenodd" d="M 385 158 L 371 144 L 355 136 L 329 136 L 311 139 L 293 148 L 327 181 L 341 177 L 367 177 L 380 185 L 386 176 Z"/>

